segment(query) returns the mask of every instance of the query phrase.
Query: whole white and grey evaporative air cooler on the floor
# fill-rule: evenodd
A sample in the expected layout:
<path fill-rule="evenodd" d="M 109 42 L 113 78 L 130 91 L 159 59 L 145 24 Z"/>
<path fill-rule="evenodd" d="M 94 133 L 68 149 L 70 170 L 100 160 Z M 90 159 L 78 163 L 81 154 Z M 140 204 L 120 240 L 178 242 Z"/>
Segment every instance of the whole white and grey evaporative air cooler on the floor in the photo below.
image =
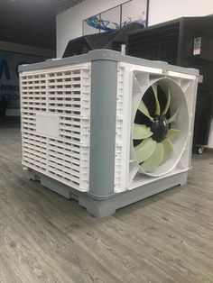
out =
<path fill-rule="evenodd" d="M 23 65 L 24 171 L 97 216 L 185 184 L 197 84 L 113 50 Z"/>

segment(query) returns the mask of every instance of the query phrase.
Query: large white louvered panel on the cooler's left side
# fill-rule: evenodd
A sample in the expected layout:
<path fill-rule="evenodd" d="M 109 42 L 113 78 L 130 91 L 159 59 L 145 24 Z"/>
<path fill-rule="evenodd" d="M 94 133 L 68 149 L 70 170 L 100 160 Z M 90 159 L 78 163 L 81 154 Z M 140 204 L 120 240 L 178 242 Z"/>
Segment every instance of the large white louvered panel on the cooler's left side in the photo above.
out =
<path fill-rule="evenodd" d="M 23 165 L 88 191 L 90 64 L 20 76 Z"/>

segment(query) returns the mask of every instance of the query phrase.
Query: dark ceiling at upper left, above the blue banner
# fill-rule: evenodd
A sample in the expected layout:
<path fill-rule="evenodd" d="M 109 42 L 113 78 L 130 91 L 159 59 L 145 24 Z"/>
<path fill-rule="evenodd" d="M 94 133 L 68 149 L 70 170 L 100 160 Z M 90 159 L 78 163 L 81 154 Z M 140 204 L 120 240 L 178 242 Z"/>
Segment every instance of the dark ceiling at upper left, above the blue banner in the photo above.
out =
<path fill-rule="evenodd" d="M 85 0 L 1 0 L 0 41 L 56 49 L 56 14 Z"/>

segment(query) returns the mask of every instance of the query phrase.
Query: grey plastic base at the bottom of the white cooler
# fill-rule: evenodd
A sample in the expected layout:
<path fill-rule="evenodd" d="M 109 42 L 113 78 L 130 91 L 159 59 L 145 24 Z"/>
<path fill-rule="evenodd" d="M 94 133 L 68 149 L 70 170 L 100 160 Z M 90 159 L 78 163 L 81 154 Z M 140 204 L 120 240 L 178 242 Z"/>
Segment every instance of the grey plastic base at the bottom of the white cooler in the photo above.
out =
<path fill-rule="evenodd" d="M 82 193 L 78 190 L 61 184 L 57 180 L 42 175 L 32 169 L 27 170 L 27 178 L 39 180 L 44 187 L 50 188 L 60 196 L 74 198 L 79 201 L 79 205 L 85 207 L 88 213 L 97 217 L 113 215 L 118 208 L 133 204 L 148 196 L 153 196 L 171 187 L 185 185 L 187 183 L 188 172 L 182 172 L 167 178 L 162 178 L 142 187 L 136 187 L 119 194 L 111 196 L 94 196 L 89 193 Z"/>

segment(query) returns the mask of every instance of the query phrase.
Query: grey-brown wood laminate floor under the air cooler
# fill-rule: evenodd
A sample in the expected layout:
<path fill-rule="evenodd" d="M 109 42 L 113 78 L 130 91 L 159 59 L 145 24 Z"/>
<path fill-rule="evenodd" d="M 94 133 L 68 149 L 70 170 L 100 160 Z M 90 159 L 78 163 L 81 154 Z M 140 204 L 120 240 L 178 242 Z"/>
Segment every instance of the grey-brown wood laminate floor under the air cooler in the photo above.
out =
<path fill-rule="evenodd" d="M 14 124 L 0 123 L 0 282 L 213 283 L 212 153 L 187 186 L 97 219 L 23 177 Z"/>

